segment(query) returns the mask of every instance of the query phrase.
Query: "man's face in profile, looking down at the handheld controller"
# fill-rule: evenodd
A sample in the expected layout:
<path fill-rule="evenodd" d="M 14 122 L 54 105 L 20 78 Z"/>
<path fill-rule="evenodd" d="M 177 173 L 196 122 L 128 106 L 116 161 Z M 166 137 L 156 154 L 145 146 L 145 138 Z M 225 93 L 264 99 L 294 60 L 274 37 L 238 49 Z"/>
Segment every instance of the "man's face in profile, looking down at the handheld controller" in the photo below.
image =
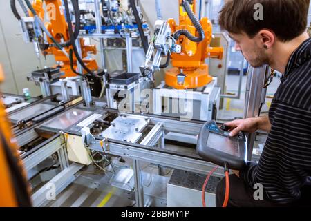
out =
<path fill-rule="evenodd" d="M 268 55 L 265 48 L 260 44 L 261 40 L 258 36 L 251 39 L 245 33 L 229 33 L 229 37 L 236 41 L 236 50 L 241 50 L 243 56 L 251 66 L 258 68 L 264 64 L 269 64 Z"/>

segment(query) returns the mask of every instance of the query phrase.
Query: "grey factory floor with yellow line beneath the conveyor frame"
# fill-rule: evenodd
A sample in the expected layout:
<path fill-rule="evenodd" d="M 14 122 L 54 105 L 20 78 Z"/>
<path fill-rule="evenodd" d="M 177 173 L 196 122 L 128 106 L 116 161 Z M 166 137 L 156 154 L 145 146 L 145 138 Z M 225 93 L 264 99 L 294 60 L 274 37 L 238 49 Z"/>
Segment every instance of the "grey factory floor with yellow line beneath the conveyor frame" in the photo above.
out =
<path fill-rule="evenodd" d="M 126 159 L 125 159 L 126 160 Z M 107 167 L 100 171 L 93 166 L 82 170 L 75 182 L 51 200 L 48 207 L 134 207 L 135 191 L 131 160 L 126 160 L 126 168 Z M 167 206 L 166 193 L 172 169 L 164 169 L 159 175 L 159 167 L 140 164 L 145 206 Z"/>

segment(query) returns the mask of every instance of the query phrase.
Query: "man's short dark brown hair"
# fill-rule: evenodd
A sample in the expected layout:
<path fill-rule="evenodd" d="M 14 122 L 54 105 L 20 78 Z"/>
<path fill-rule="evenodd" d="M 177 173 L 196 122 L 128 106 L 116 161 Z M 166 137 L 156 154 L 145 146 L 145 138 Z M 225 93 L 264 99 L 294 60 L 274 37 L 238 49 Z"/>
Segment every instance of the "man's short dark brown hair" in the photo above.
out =
<path fill-rule="evenodd" d="M 255 4 L 263 6 L 263 19 L 254 19 Z M 220 11 L 220 28 L 254 37 L 260 30 L 272 30 L 280 41 L 290 41 L 307 28 L 310 0 L 229 0 Z"/>

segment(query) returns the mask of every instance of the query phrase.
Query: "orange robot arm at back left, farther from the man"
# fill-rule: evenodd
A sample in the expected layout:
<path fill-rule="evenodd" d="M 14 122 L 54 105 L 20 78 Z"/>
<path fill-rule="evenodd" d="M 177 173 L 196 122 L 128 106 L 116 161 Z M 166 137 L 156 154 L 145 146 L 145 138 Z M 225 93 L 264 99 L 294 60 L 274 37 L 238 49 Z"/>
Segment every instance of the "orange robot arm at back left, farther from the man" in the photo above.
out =
<path fill-rule="evenodd" d="M 50 18 L 49 22 L 46 22 L 46 29 L 53 35 L 53 37 L 60 42 L 62 39 L 63 41 L 68 41 L 69 39 L 69 32 L 68 32 L 68 25 L 66 23 L 66 19 L 64 16 L 64 11 L 62 9 L 62 2 L 60 0 L 35 0 L 32 3 L 32 7 L 37 12 L 37 15 L 44 20 L 44 2 L 46 5 L 46 11 L 48 12 L 48 17 Z M 32 13 L 30 12 L 30 15 Z M 80 46 L 82 52 L 82 60 L 84 64 L 88 67 L 88 69 L 95 71 L 98 70 L 97 63 L 95 59 L 86 59 L 88 52 L 95 55 L 97 50 L 95 45 L 85 45 L 84 39 L 80 39 Z M 48 38 L 48 43 L 53 44 L 53 41 Z M 66 52 L 69 54 L 69 50 L 72 46 L 66 48 Z M 60 64 L 61 70 L 65 73 L 62 77 L 73 77 L 77 76 L 70 68 L 70 60 L 62 50 L 59 50 L 56 47 L 49 47 L 43 51 L 44 55 L 54 55 L 55 61 Z M 58 66 L 58 65 L 55 65 Z M 73 55 L 73 68 L 77 68 L 77 58 Z"/>

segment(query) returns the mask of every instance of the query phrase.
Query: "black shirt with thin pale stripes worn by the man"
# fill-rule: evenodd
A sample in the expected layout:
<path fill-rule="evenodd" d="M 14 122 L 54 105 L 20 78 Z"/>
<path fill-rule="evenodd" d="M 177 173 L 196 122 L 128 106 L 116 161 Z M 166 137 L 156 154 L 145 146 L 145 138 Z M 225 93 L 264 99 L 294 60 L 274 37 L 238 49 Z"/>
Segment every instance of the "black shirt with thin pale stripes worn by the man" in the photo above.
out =
<path fill-rule="evenodd" d="M 263 184 L 272 202 L 286 204 L 311 188 L 311 39 L 291 55 L 269 111 L 271 131 L 258 164 L 240 172 L 251 187 Z M 311 195 L 310 195 L 311 200 Z"/>

